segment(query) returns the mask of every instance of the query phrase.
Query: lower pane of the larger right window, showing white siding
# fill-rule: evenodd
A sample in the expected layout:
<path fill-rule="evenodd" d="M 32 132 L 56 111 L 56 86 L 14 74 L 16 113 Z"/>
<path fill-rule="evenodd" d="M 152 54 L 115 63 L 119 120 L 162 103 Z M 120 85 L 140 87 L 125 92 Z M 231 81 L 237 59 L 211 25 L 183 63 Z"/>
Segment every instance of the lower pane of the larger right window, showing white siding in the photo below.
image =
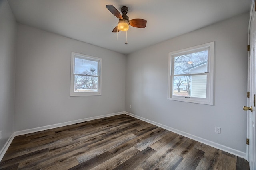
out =
<path fill-rule="evenodd" d="M 206 98 L 207 75 L 174 76 L 174 96 Z"/>

